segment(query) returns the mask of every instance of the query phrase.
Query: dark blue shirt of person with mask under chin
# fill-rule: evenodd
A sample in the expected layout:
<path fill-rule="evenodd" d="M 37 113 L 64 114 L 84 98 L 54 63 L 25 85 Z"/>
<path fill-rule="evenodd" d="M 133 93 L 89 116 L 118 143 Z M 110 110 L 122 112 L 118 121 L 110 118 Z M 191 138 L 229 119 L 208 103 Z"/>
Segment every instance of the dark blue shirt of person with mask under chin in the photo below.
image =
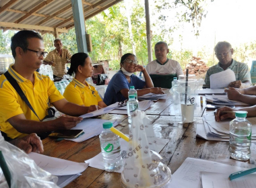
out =
<path fill-rule="evenodd" d="M 108 83 L 106 93 L 104 95 L 104 103 L 111 105 L 116 102 L 125 101 L 125 98 L 121 89 L 130 89 L 130 86 L 134 86 L 134 89 L 143 89 L 146 85 L 145 81 L 142 81 L 136 75 L 131 75 L 131 83 L 129 83 L 123 74 L 123 71 L 118 71 Z"/>

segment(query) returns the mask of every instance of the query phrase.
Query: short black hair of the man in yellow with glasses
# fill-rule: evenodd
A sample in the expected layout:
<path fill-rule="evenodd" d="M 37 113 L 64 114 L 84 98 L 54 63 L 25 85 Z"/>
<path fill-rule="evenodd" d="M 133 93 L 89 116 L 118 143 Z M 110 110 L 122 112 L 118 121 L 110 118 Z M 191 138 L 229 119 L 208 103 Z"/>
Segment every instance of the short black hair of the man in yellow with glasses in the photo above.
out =
<path fill-rule="evenodd" d="M 40 40 L 43 40 L 40 34 L 33 32 L 31 30 L 22 30 L 20 32 L 17 32 L 11 37 L 11 53 L 13 58 L 15 58 L 16 56 L 15 49 L 17 47 L 22 48 L 24 52 L 27 51 L 28 38 L 39 38 Z"/>

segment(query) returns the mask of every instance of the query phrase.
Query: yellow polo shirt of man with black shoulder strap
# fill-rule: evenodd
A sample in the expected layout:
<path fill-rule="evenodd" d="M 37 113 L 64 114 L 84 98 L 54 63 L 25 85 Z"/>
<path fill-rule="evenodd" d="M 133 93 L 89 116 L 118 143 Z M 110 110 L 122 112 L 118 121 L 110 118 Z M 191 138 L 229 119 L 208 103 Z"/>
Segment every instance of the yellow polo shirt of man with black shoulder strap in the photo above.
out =
<path fill-rule="evenodd" d="M 9 66 L 8 72 L 20 85 L 28 101 L 32 105 L 36 114 L 42 120 L 47 114 L 47 109 L 51 103 L 59 101 L 64 97 L 56 89 L 53 81 L 49 77 L 34 72 L 34 85 L 30 80 L 25 79 Z M 22 100 L 12 85 L 7 81 L 5 75 L 0 77 L 0 130 L 5 132 L 9 138 L 23 137 L 23 134 L 15 130 L 7 120 L 15 115 L 24 113 L 27 120 L 38 121 L 36 115 Z"/>

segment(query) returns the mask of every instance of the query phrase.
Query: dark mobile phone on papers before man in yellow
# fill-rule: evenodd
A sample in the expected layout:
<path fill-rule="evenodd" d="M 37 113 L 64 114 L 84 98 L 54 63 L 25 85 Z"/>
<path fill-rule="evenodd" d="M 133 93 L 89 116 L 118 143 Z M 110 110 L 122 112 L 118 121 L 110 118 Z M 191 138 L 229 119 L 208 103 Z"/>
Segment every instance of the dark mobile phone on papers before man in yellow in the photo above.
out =
<path fill-rule="evenodd" d="M 49 134 L 51 138 L 77 138 L 84 130 L 56 130 Z"/>

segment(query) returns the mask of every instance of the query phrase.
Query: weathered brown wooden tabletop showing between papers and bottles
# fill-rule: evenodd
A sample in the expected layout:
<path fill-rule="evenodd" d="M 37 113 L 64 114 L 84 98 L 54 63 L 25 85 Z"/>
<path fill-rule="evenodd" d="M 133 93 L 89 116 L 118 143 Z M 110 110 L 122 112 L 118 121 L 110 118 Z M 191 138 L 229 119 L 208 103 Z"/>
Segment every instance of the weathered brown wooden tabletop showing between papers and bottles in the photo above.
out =
<path fill-rule="evenodd" d="M 177 171 L 187 157 L 201 158 L 205 160 L 216 160 L 219 157 L 230 158 L 229 142 L 207 141 L 196 137 L 196 126 L 203 126 L 201 115 L 205 109 L 200 105 L 199 96 L 197 99 L 195 118 L 196 121 L 191 124 L 179 124 L 181 117 L 174 116 L 177 107 L 172 103 L 170 93 L 165 90 L 167 99 L 156 101 L 146 110 L 148 117 L 154 124 L 155 134 L 158 138 L 168 138 L 170 141 L 160 154 L 166 160 L 172 173 Z M 204 97 L 203 97 L 204 99 Z M 205 111 L 205 113 L 213 113 Z M 105 114 L 101 119 L 120 120 L 121 124 L 117 129 L 128 134 L 129 126 L 127 115 Z M 55 141 L 51 138 L 42 140 L 44 144 L 44 153 L 47 156 L 54 156 L 75 162 L 84 162 L 100 153 L 100 140 L 98 136 L 90 138 L 84 142 L 72 142 L 69 140 Z M 255 163 L 256 144 L 251 146 L 252 154 L 249 161 Z M 69 183 L 66 187 L 120 187 L 121 174 L 108 173 L 100 169 L 88 167 L 80 177 Z"/>

